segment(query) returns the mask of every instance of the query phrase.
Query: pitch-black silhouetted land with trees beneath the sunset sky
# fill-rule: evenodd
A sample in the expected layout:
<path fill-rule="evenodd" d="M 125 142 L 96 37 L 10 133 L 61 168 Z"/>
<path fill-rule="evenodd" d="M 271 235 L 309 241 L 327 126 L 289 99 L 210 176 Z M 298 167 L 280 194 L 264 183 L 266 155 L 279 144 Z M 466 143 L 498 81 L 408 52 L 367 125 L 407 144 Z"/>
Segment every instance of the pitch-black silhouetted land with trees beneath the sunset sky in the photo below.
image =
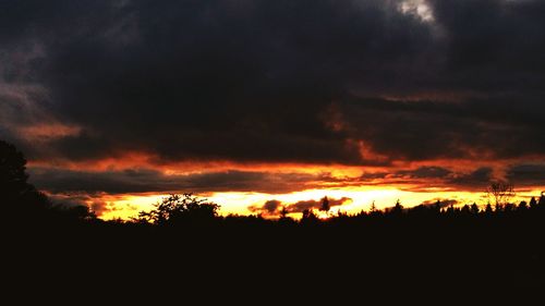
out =
<path fill-rule="evenodd" d="M 398 204 L 327 220 L 307 211 L 300 221 L 220 217 L 215 204 L 173 195 L 132 221 L 102 221 L 85 207 L 51 204 L 26 183 L 24 164 L 0 142 L 4 277 L 26 286 L 98 278 L 106 290 L 173 278 L 277 298 L 377 289 L 498 296 L 545 281 L 543 195 L 486 209 Z"/>

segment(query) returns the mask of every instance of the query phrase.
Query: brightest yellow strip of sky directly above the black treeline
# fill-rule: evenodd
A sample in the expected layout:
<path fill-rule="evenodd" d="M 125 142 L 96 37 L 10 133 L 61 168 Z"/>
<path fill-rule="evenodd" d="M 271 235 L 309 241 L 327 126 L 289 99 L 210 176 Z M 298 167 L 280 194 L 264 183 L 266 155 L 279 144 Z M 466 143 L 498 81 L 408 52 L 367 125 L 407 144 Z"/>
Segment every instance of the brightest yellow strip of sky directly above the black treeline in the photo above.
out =
<path fill-rule="evenodd" d="M 512 198 L 512 203 L 519 204 L 521 200 L 526 203 L 531 197 L 538 197 L 541 189 L 531 189 L 517 192 Z M 251 207 L 263 207 L 269 200 L 278 200 L 283 205 L 292 205 L 299 201 L 316 200 L 327 196 L 330 199 L 350 198 L 347 204 L 335 206 L 330 209 L 330 213 L 336 215 L 338 211 L 349 215 L 358 213 L 360 211 L 368 211 L 372 204 L 376 209 L 384 210 L 393 207 L 397 200 L 405 208 L 411 208 L 422 204 L 433 204 L 436 200 L 443 203 L 456 201 L 455 207 L 463 205 L 471 205 L 476 203 L 479 207 L 483 208 L 486 204 L 494 204 L 485 192 L 438 192 L 438 193 L 419 193 L 407 192 L 395 187 L 380 188 L 380 189 L 356 189 L 356 188 L 335 188 L 335 189 L 310 189 L 302 192 L 294 192 L 289 194 L 263 194 L 263 193 L 243 193 L 243 192 L 227 192 L 227 193 L 211 193 L 211 194 L 194 194 L 201 198 L 205 198 L 211 203 L 220 205 L 220 216 L 228 215 L 262 215 L 264 218 L 278 218 L 278 213 L 267 213 L 265 210 L 252 211 Z M 137 217 L 140 211 L 149 210 L 153 205 L 162 200 L 169 194 L 145 194 L 145 195 L 102 195 L 101 199 L 109 208 L 99 218 L 104 220 L 111 219 L 130 219 Z M 92 203 L 89 203 L 92 206 Z M 317 209 L 315 209 L 317 211 Z M 301 212 L 290 212 L 290 217 L 300 218 Z"/>

